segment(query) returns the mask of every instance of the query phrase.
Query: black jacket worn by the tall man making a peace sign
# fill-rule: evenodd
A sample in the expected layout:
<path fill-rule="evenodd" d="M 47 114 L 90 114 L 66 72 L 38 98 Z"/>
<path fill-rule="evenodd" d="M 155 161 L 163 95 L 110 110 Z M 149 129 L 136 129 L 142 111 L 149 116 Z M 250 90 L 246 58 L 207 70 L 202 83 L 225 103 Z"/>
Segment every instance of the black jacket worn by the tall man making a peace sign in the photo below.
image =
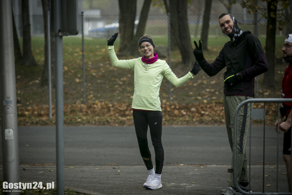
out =
<path fill-rule="evenodd" d="M 224 80 L 240 73 L 242 79 L 238 83 L 231 86 L 224 84 L 224 94 L 246 95 L 253 98 L 255 77 L 268 70 L 263 47 L 258 38 L 248 30 L 244 31 L 235 43 L 231 41 L 225 43 L 213 63 L 209 64 L 205 58 L 198 60 L 198 63 L 208 76 L 216 75 L 226 66 Z"/>

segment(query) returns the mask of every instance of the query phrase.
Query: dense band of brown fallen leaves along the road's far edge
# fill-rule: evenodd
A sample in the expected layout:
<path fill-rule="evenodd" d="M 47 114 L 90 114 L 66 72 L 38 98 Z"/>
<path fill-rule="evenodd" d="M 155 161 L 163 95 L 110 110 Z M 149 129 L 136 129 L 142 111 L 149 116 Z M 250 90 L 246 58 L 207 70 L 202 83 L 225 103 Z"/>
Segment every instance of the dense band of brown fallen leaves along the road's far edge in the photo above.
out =
<path fill-rule="evenodd" d="M 162 104 L 163 122 L 168 126 L 201 126 L 225 125 L 222 103 L 209 104 Z M 262 108 L 263 104 L 255 107 Z M 54 125 L 53 117 L 48 117 L 48 106 L 18 107 L 18 125 Z M 266 105 L 266 125 L 273 125 L 277 113 L 277 104 Z M 256 121 L 258 124 L 259 121 Z M 64 125 L 102 125 L 102 126 L 133 126 L 131 103 L 95 102 L 64 105 Z"/>

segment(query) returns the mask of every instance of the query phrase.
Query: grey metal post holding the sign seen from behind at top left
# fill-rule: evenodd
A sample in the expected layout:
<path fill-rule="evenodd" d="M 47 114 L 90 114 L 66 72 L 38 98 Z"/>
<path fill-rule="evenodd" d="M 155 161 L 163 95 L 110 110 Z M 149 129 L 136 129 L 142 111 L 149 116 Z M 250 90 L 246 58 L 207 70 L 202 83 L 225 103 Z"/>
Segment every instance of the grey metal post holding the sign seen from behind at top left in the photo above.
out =
<path fill-rule="evenodd" d="M 56 58 L 56 156 L 57 194 L 64 194 L 64 106 L 63 106 L 63 37 L 61 0 L 54 1 Z"/>

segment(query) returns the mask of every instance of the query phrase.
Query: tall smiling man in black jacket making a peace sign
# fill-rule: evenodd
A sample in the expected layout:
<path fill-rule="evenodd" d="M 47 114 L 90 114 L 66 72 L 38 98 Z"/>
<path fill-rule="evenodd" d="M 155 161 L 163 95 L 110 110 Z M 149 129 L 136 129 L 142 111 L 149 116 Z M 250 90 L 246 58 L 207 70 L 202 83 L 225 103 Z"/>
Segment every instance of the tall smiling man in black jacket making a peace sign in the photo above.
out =
<path fill-rule="evenodd" d="M 240 30 L 237 20 L 230 14 L 219 16 L 219 25 L 224 34 L 230 37 L 225 43 L 218 57 L 209 64 L 203 55 L 201 40 L 199 47 L 194 41 L 196 49 L 194 55 L 197 62 L 208 76 L 214 76 L 226 67 L 224 73 L 224 112 L 228 140 L 232 150 L 234 132 L 234 114 L 237 106 L 244 100 L 254 98 L 255 77 L 268 70 L 267 60 L 263 47 L 258 38 L 250 31 Z M 250 123 L 252 105 L 245 104 L 238 112 L 237 136 L 237 182 L 244 191 L 250 191 L 247 170 L 246 138 Z M 233 169 L 233 155 L 232 165 Z M 236 194 L 237 189 L 233 182 L 233 173 L 230 174 L 230 183 L 222 194 Z"/>

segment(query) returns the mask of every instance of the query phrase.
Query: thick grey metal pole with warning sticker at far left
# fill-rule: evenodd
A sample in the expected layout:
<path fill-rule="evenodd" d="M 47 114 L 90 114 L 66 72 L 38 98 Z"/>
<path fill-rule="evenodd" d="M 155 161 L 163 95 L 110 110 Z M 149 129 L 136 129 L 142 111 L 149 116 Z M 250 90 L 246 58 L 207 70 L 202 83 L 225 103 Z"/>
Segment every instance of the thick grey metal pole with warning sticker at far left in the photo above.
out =
<path fill-rule="evenodd" d="M 19 183 L 18 126 L 12 24 L 11 0 L 2 0 L 0 1 L 0 107 L 3 180 L 8 183 Z M 9 194 L 20 194 L 20 192 L 10 192 Z"/>

